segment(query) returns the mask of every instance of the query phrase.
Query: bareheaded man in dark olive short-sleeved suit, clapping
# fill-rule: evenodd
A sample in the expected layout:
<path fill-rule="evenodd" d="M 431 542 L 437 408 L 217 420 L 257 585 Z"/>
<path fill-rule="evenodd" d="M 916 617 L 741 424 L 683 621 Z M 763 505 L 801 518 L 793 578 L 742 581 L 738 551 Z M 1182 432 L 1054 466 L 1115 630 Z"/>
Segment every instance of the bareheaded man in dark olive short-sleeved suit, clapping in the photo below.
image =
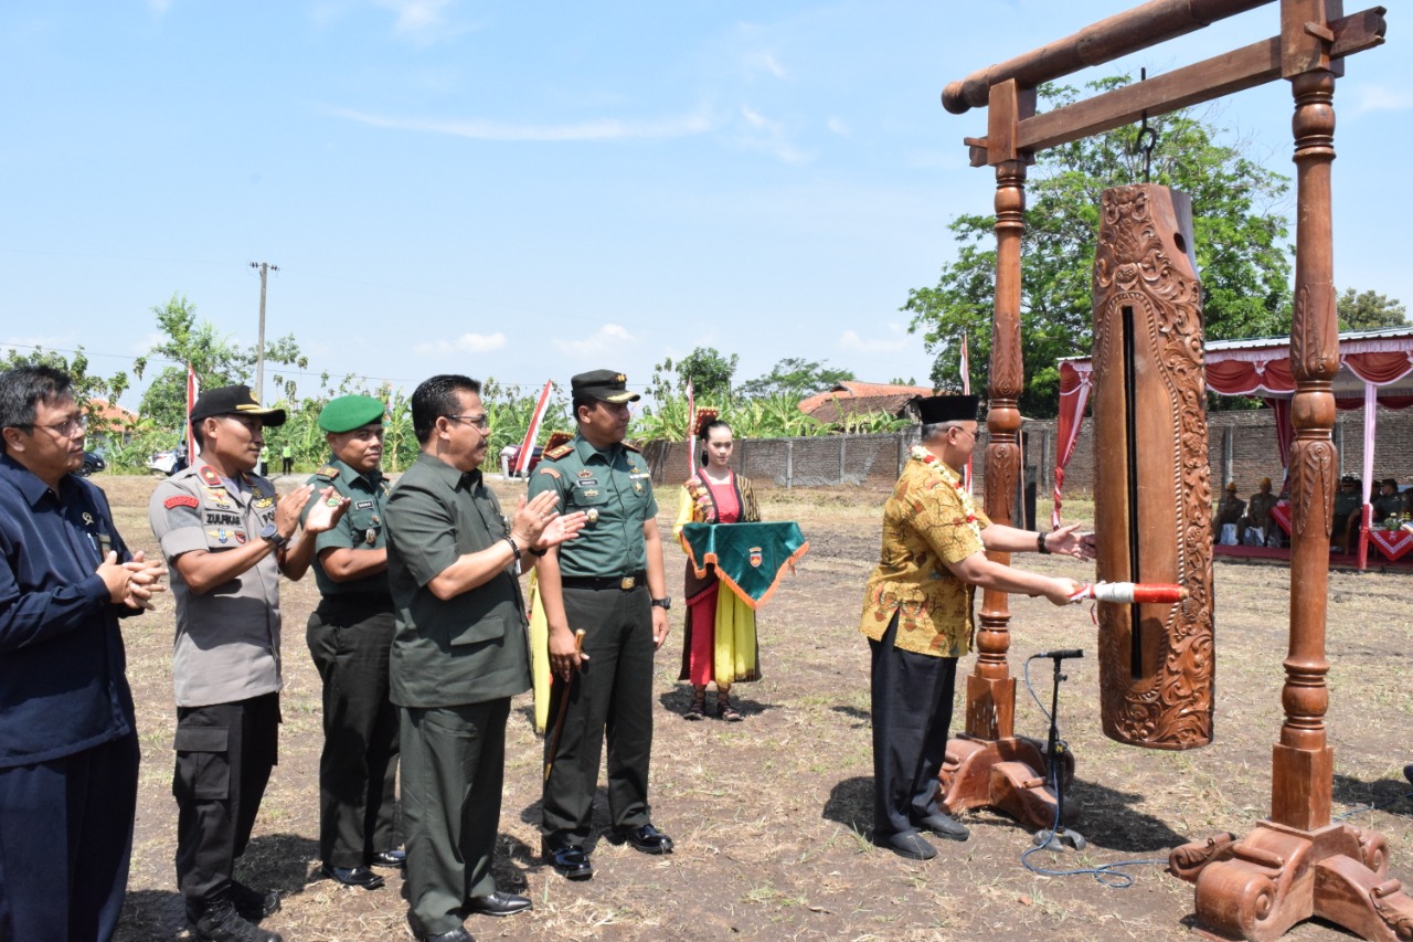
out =
<path fill-rule="evenodd" d="M 469 942 L 466 912 L 530 908 L 492 873 L 510 697 L 530 689 L 517 576 L 584 518 L 560 515 L 552 494 L 502 516 L 480 477 L 490 421 L 475 379 L 432 376 L 411 406 L 421 453 L 387 504 L 407 921 L 418 939 Z"/>

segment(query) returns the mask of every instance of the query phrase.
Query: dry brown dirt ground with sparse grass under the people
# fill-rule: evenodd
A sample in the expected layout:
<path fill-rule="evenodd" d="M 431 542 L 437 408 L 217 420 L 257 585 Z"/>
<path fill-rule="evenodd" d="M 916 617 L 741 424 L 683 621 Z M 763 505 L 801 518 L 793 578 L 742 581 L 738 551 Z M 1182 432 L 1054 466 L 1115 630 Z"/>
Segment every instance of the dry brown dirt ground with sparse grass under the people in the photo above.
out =
<path fill-rule="evenodd" d="M 147 499 L 155 481 L 99 477 L 134 547 L 155 550 Z M 503 495 L 510 494 L 507 488 Z M 663 525 L 675 492 L 660 491 Z M 595 877 L 568 883 L 538 863 L 540 741 L 530 697 L 516 700 L 507 733 L 506 795 L 496 876 L 534 911 L 510 919 L 471 917 L 478 938 L 509 939 L 1171 939 L 1191 935 L 1193 887 L 1166 873 L 1170 847 L 1231 830 L 1246 833 L 1270 808 L 1270 754 L 1282 721 L 1289 570 L 1217 563 L 1217 741 L 1161 752 L 1106 740 L 1098 721 L 1095 628 L 1087 610 L 1012 600 L 1010 669 L 1047 648 L 1080 646 L 1065 662 L 1061 735 L 1077 757 L 1070 802 L 1084 851 L 1031 854 L 1047 870 L 1145 861 L 1133 884 L 1111 888 L 1092 874 L 1041 876 L 1022 853 L 1029 829 L 992 812 L 962 816 L 966 843 L 938 842 L 927 863 L 873 847 L 868 645 L 856 628 L 863 581 L 877 553 L 883 494 L 763 494 L 767 519 L 796 519 L 810 553 L 760 614 L 764 678 L 738 686 L 745 723 L 687 723 L 678 685 L 681 615 L 657 661 L 653 820 L 677 851 L 649 857 L 596 839 Z M 1082 505 L 1077 505 L 1082 511 Z M 682 556 L 668 547 L 673 594 Z M 1029 554 L 1041 571 L 1089 574 L 1075 560 Z M 1331 574 L 1328 618 L 1330 743 L 1334 813 L 1382 833 L 1390 876 L 1413 877 L 1413 799 L 1402 767 L 1413 761 L 1406 717 L 1413 608 L 1407 574 Z M 284 908 L 266 925 L 288 941 L 411 938 L 401 880 L 373 892 L 321 878 L 318 861 L 319 689 L 304 644 L 312 577 L 285 583 L 284 727 L 280 765 L 239 876 L 273 887 Z M 174 885 L 177 809 L 171 798 L 171 598 L 124 622 L 129 676 L 143 743 L 141 792 L 127 905 L 119 939 L 187 938 Z M 969 673 L 975 658 L 961 663 Z M 1031 670 L 1048 706 L 1050 662 Z M 962 687 L 959 679 L 958 686 Z M 959 694 L 961 696 L 961 694 Z M 1017 685 L 1016 730 L 1044 737 L 1046 720 Z M 958 704 L 954 731 L 962 710 Z M 1355 810 L 1388 802 L 1382 810 Z M 606 826 L 601 791 L 595 823 Z M 1294 939 L 1345 935 L 1321 922 Z"/>

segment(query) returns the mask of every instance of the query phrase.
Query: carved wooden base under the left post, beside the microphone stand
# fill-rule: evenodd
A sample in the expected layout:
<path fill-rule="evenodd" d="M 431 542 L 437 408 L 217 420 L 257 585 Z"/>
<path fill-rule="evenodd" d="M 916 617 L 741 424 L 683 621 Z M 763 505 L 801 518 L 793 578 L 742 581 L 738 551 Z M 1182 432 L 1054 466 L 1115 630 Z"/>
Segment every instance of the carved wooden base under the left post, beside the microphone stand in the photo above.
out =
<path fill-rule="evenodd" d="M 1054 827 L 1056 796 L 1046 785 L 1044 744 L 1027 737 L 981 740 L 965 733 L 947 743 L 938 777 L 942 810 L 957 815 L 969 808 L 995 808 L 1027 827 Z M 1074 778 L 1074 755 L 1061 754 L 1065 784 Z M 1074 802 L 1065 801 L 1065 820 L 1078 819 Z"/>

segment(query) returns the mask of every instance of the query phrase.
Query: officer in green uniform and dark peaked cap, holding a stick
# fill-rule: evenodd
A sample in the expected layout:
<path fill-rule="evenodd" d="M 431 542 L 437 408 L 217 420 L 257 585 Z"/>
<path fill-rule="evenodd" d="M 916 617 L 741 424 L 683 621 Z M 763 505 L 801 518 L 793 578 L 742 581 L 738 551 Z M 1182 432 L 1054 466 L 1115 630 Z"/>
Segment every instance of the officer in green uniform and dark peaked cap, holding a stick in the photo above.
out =
<path fill-rule="evenodd" d="M 673 850 L 647 803 L 653 653 L 667 638 L 671 600 L 647 461 L 623 443 L 627 403 L 639 399 L 626 385 L 612 369 L 574 376 L 578 434 L 547 451 L 530 479 L 531 496 L 557 494 L 565 512 L 588 518 L 577 540 L 540 560 L 538 576 L 550 665 L 562 680 L 550 716 L 561 716 L 560 699 L 569 697 L 562 726 L 545 735 L 541 854 L 569 880 L 593 876 L 585 842 L 605 731 L 610 840 L 651 854 Z M 582 649 L 577 631 L 585 632 Z"/>

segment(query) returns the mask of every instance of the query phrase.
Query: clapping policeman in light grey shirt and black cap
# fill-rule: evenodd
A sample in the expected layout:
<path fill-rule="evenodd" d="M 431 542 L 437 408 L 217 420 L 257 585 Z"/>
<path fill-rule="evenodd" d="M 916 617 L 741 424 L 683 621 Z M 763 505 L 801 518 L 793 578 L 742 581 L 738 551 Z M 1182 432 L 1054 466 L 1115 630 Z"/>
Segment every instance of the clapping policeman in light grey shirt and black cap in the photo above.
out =
<path fill-rule="evenodd" d="M 147 512 L 177 603 L 177 884 L 194 938 L 213 942 L 280 942 L 252 924 L 280 897 L 237 883 L 235 860 L 276 764 L 280 573 L 308 569 L 308 535 L 333 526 L 346 506 L 321 495 L 305 536 L 291 543 L 314 488 L 278 498 L 250 474 L 264 427 L 283 423 L 284 410 L 263 409 L 249 386 L 202 393 L 191 412 L 201 455 L 157 485 Z"/>

